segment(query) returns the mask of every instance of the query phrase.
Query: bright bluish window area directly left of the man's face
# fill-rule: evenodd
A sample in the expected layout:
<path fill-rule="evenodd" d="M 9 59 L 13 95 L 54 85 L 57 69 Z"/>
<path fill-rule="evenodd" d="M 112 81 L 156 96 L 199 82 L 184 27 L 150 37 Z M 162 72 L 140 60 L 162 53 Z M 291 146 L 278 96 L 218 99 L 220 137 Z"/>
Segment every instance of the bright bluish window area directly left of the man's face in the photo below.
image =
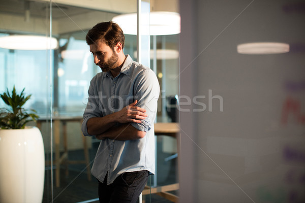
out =
<path fill-rule="evenodd" d="M 94 67 L 84 39 L 76 39 L 72 34 L 69 39 L 60 39 L 59 46 L 58 112 L 82 115 L 90 79 L 98 69 Z"/>

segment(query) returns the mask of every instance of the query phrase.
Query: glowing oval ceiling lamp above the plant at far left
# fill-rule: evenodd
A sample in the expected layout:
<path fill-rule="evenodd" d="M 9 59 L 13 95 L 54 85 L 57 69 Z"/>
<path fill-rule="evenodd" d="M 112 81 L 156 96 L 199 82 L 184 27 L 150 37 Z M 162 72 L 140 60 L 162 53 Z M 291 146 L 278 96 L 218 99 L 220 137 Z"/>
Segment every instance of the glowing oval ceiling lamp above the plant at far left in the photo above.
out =
<path fill-rule="evenodd" d="M 0 48 L 16 50 L 45 50 L 58 47 L 55 38 L 32 35 L 10 35 L 0 37 Z"/>

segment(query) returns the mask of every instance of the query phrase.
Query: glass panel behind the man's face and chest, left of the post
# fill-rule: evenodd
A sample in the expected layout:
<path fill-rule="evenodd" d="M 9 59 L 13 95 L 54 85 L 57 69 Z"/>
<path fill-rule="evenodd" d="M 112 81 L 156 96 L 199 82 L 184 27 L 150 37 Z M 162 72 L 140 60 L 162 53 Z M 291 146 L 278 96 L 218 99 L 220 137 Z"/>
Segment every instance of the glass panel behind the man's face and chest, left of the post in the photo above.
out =
<path fill-rule="evenodd" d="M 116 3 L 126 4 L 123 1 Z M 129 3 L 126 10 L 112 10 L 110 3 L 101 5 L 99 1 L 52 4 L 52 35 L 59 42 L 59 48 L 54 53 L 54 163 L 60 158 L 64 160 L 54 170 L 56 202 L 98 199 L 98 182 L 91 175 L 90 168 L 99 141 L 94 137 L 83 137 L 80 125 L 87 104 L 90 80 L 101 70 L 94 63 L 85 36 L 99 22 L 110 21 L 120 13 L 136 12 L 136 2 Z M 125 53 L 133 53 L 136 50 L 136 37 L 127 36 L 126 41 Z M 55 125 L 55 121 L 58 121 L 58 125 Z M 56 133 L 60 134 L 58 146 Z M 56 155 L 56 151 L 59 154 Z M 58 167 L 59 175 L 56 172 Z"/>

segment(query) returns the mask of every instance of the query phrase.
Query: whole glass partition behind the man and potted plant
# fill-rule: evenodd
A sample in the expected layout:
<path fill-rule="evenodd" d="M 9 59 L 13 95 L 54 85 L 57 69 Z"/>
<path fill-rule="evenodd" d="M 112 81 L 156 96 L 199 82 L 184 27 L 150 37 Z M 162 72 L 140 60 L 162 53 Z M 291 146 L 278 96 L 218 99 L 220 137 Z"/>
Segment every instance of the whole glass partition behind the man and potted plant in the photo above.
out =
<path fill-rule="evenodd" d="M 149 14 L 152 5 L 142 2 L 142 14 Z M 15 85 L 17 92 L 25 88 L 32 94 L 25 109 L 34 109 L 40 116 L 29 125 L 39 127 L 45 150 L 45 181 L 42 202 L 98 202 L 98 183 L 90 174 L 99 141 L 84 138 L 80 124 L 87 103 L 90 80 L 100 72 L 85 42 L 87 31 L 95 24 L 114 16 L 137 12 L 137 1 L 2 1 L 0 38 L 10 35 L 34 35 L 56 39 L 57 45 L 41 50 L 0 48 L 0 92 Z M 119 6 L 114 6 L 119 5 Z M 142 17 L 142 26 L 149 17 Z M 148 28 L 149 29 L 149 28 Z M 147 31 L 147 30 L 146 30 Z M 141 55 L 137 56 L 136 35 L 126 34 L 124 53 L 139 60 L 157 74 L 161 94 L 156 122 L 178 122 L 175 102 L 178 94 L 178 35 L 141 36 Z M 23 41 L 24 43 L 24 41 Z M 32 47 L 32 46 L 31 46 Z M 161 50 L 174 50 L 167 57 Z M 160 53 L 161 55 L 160 55 Z M 0 107 L 4 107 L 0 101 Z M 174 109 L 170 109 L 174 107 Z M 176 117 L 175 117 L 176 116 Z M 177 183 L 176 139 L 156 137 L 156 175 L 148 186 Z M 176 194 L 176 192 L 173 192 Z M 157 194 L 143 195 L 147 202 L 171 202 Z"/>

